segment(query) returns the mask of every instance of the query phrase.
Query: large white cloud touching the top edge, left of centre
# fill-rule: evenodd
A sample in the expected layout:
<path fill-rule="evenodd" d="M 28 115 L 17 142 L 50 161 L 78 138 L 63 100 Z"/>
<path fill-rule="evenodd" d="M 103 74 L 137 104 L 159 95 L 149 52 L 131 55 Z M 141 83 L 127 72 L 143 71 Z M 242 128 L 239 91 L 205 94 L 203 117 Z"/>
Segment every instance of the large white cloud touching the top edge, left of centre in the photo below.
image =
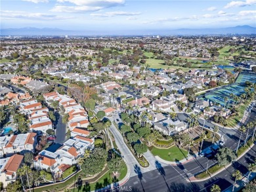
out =
<path fill-rule="evenodd" d="M 32 0 L 34 1 L 34 0 Z M 37 1 L 37 0 L 36 0 Z M 72 3 L 75 6 L 56 5 L 53 12 L 92 12 L 123 5 L 125 0 L 57 0 L 58 3 Z"/>

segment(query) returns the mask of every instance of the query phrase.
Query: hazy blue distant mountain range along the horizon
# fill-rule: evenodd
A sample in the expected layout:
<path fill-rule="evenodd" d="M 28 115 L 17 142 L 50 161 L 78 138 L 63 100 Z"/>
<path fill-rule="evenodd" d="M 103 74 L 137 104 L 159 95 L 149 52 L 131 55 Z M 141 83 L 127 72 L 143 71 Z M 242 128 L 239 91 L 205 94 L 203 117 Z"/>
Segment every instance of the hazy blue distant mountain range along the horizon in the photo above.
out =
<path fill-rule="evenodd" d="M 256 28 L 251 26 L 236 26 L 230 28 L 205 29 L 145 29 L 122 32 L 111 31 L 74 31 L 58 28 L 8 28 L 1 29 L 0 35 L 255 35 Z"/>

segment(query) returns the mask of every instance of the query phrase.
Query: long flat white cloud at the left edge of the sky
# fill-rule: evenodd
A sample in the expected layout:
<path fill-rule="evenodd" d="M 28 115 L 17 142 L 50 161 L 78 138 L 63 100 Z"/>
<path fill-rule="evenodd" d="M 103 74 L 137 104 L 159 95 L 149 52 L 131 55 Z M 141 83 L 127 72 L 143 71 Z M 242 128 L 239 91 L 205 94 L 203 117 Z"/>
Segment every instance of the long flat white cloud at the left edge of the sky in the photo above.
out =
<path fill-rule="evenodd" d="M 66 20 L 71 17 L 61 17 L 54 14 L 45 14 L 41 12 L 24 12 L 24 11 L 1 11 L 1 17 L 6 19 L 28 19 L 28 20 Z"/>

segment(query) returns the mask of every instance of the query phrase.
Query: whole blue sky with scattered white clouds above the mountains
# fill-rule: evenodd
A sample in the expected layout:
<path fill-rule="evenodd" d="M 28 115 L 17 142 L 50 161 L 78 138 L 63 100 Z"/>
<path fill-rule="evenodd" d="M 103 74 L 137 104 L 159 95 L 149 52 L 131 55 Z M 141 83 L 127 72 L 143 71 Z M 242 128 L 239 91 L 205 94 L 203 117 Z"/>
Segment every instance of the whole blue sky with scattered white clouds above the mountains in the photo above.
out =
<path fill-rule="evenodd" d="M 256 26 L 256 0 L 1 0 L 1 29 L 77 31 Z"/>

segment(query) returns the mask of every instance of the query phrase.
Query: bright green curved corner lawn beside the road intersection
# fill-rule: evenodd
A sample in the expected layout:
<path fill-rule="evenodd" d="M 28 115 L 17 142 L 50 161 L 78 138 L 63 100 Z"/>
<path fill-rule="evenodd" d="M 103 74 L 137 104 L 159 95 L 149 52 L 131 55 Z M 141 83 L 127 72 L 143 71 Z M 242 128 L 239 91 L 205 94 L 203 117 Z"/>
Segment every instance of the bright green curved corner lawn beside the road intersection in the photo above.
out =
<path fill-rule="evenodd" d="M 159 149 L 153 147 L 151 153 L 155 156 L 158 155 L 159 157 L 161 157 L 161 159 L 164 159 L 165 161 L 181 161 L 188 155 L 188 151 L 185 151 L 184 149 L 179 149 L 179 147 L 177 146 L 170 147 L 169 149 Z"/>

